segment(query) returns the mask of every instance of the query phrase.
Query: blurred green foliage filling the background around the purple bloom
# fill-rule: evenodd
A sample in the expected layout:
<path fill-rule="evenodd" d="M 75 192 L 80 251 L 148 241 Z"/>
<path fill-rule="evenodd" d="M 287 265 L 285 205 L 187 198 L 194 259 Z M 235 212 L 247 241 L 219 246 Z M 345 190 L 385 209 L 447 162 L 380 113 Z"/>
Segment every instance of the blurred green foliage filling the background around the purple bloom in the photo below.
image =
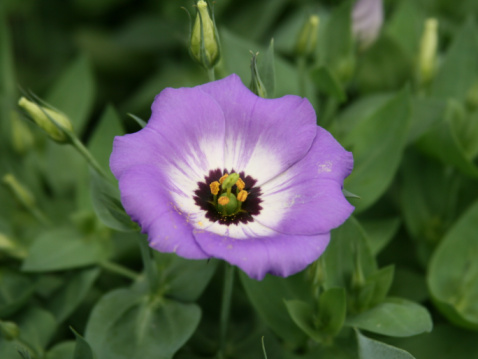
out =
<path fill-rule="evenodd" d="M 13 174 L 33 198 L 0 187 L 0 325 L 20 329 L 0 335 L 2 359 L 215 357 L 222 264 L 156 253 L 142 273 L 144 238 L 108 182 L 114 136 L 140 128 L 127 114 L 147 120 L 165 87 L 207 81 L 187 51 L 181 7 L 194 14 L 193 5 L 1 2 L 0 177 Z M 262 336 L 269 358 L 478 356 L 478 2 L 384 5 L 380 37 L 359 51 L 353 1 L 214 4 L 217 77 L 249 84 L 250 51 L 259 52 L 267 93 L 307 95 L 318 124 L 354 153 L 345 187 L 360 197 L 304 272 L 237 276 L 224 357 L 264 357 Z M 318 45 L 301 68 L 295 43 L 311 14 Z M 430 17 L 438 67 L 422 84 Z M 30 91 L 70 118 L 108 178 L 18 110 Z"/>

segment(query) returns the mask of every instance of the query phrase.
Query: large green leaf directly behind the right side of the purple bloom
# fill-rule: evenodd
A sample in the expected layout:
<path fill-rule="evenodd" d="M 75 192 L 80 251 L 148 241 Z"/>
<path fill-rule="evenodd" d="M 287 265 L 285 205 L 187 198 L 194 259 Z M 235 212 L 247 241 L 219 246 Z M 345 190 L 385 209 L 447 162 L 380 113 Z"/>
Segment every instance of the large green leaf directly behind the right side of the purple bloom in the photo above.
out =
<path fill-rule="evenodd" d="M 353 202 L 356 212 L 372 205 L 390 185 L 406 145 L 409 122 L 410 99 L 405 89 L 358 122 L 343 140 L 355 159 L 344 186 L 361 197 Z"/>

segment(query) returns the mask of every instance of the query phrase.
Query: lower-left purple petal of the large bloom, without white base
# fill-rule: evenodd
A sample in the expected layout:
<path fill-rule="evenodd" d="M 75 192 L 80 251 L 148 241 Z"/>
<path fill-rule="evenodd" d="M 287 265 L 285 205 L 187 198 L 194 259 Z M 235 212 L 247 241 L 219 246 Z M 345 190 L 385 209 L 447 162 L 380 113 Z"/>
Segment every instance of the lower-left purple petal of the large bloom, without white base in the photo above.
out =
<path fill-rule="evenodd" d="M 163 180 L 162 173 L 153 166 L 138 165 L 124 171 L 119 186 L 126 212 L 148 233 L 154 249 L 175 252 L 184 258 L 208 258 L 196 244 L 188 214 L 161 186 Z"/>

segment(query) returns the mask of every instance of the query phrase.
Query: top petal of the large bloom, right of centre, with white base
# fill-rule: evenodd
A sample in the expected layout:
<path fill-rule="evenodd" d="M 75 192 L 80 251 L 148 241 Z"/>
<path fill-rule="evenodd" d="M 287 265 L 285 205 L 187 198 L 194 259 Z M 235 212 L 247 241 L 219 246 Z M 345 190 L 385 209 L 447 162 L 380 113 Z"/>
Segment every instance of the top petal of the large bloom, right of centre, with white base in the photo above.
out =
<path fill-rule="evenodd" d="M 237 75 L 199 88 L 224 111 L 225 169 L 244 171 L 260 186 L 304 157 L 312 145 L 317 125 L 307 99 L 260 98 Z"/>

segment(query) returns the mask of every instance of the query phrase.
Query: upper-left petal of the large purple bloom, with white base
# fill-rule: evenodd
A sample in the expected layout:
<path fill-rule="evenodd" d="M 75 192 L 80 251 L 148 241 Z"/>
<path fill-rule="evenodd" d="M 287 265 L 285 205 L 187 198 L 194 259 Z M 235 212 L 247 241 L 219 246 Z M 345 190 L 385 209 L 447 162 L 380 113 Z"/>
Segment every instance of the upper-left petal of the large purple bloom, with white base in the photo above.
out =
<path fill-rule="evenodd" d="M 110 166 L 120 182 L 131 166 L 155 167 L 175 205 L 192 215 L 199 211 L 193 200 L 198 182 L 224 166 L 224 134 L 224 114 L 209 95 L 197 87 L 168 88 L 156 96 L 144 129 L 115 138 Z"/>

